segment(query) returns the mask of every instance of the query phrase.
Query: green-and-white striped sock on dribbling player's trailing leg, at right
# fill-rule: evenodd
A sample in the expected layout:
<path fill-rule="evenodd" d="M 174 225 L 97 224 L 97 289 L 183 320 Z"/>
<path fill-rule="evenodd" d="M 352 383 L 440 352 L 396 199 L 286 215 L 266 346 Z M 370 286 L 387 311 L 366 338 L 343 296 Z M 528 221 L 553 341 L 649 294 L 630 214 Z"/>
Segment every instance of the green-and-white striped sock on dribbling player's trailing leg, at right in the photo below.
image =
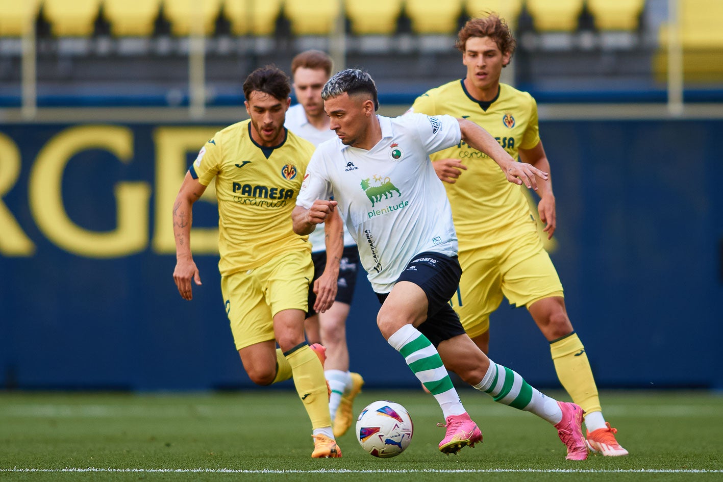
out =
<path fill-rule="evenodd" d="M 473 385 L 477 390 L 488 393 L 495 402 L 534 413 L 552 425 L 562 420 L 562 410 L 557 400 L 539 392 L 529 385 L 516 371 L 489 361 L 489 368 L 482 382 Z"/>

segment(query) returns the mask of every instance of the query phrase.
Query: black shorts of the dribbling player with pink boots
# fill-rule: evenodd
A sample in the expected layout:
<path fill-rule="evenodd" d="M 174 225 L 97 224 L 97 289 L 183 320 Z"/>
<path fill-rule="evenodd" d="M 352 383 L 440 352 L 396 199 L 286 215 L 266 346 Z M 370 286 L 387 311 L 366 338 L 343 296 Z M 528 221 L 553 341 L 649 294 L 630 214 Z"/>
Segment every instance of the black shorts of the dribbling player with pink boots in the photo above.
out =
<path fill-rule="evenodd" d="M 465 331 L 458 315 L 450 306 L 449 301 L 457 292 L 462 268 L 457 257 L 448 257 L 441 253 L 425 251 L 417 254 L 407 264 L 399 281 L 409 281 L 422 288 L 427 295 L 427 319 L 417 327 L 432 345 L 439 346 Z M 383 304 L 389 293 L 377 293 Z"/>

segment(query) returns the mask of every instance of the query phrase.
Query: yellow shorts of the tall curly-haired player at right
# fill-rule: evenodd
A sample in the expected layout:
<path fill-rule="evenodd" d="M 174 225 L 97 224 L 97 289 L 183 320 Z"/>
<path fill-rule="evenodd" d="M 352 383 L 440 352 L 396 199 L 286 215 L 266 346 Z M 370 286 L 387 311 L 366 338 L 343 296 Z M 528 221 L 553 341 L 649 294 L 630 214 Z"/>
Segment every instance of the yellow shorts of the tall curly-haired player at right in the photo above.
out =
<path fill-rule="evenodd" d="M 510 304 L 526 307 L 542 298 L 563 296 L 560 277 L 534 223 L 515 229 L 519 235 L 507 241 L 459 253 L 462 278 L 451 303 L 471 338 L 489 330 L 489 314 L 500 306 L 502 296 Z M 495 233 L 484 236 L 494 239 Z M 464 246 L 463 240 L 460 245 Z"/>

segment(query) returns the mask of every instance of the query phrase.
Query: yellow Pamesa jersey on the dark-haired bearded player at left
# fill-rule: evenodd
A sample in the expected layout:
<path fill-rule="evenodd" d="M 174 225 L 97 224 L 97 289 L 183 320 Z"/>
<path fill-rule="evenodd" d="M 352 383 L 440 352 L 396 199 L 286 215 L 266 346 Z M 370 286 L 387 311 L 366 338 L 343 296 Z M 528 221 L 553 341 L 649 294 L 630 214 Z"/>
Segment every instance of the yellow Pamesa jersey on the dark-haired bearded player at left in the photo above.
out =
<path fill-rule="evenodd" d="M 200 150 L 189 168 L 208 186 L 215 177 L 221 275 L 251 270 L 289 251 L 309 251 L 308 236 L 294 233 L 291 211 L 314 145 L 284 129 L 280 145 L 262 147 L 251 121 L 226 127 Z"/>

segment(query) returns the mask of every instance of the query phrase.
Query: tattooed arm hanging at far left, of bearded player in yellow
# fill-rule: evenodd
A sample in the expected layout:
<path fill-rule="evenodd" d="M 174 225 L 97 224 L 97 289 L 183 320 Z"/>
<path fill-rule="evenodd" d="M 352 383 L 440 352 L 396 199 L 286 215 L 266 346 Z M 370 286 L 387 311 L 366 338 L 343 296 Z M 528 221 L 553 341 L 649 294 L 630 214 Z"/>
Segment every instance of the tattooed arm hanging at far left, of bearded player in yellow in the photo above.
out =
<path fill-rule="evenodd" d="M 193 299 L 191 280 L 201 284 L 201 276 L 191 254 L 191 222 L 193 203 L 200 199 L 206 186 L 186 173 L 179 194 L 174 201 L 174 236 L 176 237 L 176 268 L 174 281 L 181 297 Z"/>

